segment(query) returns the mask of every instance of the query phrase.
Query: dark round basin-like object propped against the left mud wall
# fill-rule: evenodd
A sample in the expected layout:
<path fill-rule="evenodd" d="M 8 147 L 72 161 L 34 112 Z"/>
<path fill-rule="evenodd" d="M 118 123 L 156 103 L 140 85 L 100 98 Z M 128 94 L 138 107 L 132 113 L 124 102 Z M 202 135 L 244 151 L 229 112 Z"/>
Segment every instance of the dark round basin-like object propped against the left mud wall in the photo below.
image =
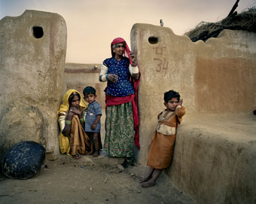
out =
<path fill-rule="evenodd" d="M 43 166 L 45 149 L 33 141 L 19 142 L 11 147 L 2 160 L 2 172 L 9 178 L 27 179 Z"/>

